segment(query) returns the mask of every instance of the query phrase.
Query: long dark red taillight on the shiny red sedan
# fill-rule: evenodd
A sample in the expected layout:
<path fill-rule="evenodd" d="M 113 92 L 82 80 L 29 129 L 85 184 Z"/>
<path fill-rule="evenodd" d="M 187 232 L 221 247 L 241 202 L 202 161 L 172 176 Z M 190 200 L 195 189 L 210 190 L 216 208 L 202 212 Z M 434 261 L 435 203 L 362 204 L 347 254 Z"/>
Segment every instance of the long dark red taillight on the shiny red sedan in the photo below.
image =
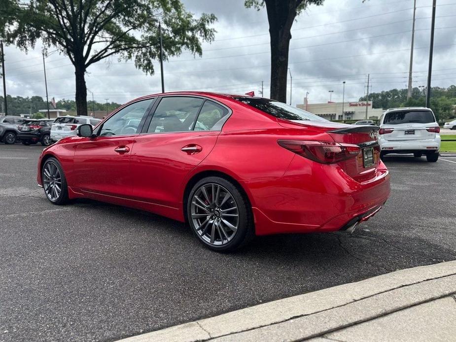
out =
<path fill-rule="evenodd" d="M 278 140 L 279 145 L 300 156 L 322 164 L 338 163 L 355 157 L 361 148 L 358 145 L 307 140 Z"/>

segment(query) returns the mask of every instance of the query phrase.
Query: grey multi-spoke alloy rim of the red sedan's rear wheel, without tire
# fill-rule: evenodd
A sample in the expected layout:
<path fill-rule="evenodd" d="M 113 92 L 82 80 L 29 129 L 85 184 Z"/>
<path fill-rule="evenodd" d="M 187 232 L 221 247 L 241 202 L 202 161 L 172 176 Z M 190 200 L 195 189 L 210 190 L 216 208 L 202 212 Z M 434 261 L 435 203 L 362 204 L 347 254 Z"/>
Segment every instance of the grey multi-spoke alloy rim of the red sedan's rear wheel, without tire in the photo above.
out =
<path fill-rule="evenodd" d="M 199 237 L 212 245 L 230 242 L 239 228 L 239 209 L 233 195 L 215 183 L 200 186 L 193 195 L 191 220 Z"/>

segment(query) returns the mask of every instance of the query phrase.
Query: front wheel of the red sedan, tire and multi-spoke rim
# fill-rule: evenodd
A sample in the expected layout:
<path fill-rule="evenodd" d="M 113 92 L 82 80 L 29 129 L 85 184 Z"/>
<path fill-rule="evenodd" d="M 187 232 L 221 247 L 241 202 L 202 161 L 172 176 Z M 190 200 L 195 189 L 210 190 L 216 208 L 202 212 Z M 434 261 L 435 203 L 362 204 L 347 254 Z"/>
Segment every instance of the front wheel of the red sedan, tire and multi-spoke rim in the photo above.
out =
<path fill-rule="evenodd" d="M 67 179 L 62 166 L 55 158 L 49 158 L 41 170 L 41 179 L 46 197 L 55 205 L 68 202 Z"/>

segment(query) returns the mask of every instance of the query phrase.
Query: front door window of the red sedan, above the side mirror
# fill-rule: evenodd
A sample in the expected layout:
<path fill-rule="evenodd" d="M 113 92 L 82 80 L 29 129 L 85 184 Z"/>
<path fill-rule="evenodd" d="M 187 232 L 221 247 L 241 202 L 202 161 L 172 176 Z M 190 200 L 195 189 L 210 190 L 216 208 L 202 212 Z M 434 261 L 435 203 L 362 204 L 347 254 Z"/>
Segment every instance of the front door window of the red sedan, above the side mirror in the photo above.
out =
<path fill-rule="evenodd" d="M 147 114 L 154 99 L 132 103 L 109 119 L 98 130 L 98 136 L 127 136 L 138 133 L 142 117 Z"/>

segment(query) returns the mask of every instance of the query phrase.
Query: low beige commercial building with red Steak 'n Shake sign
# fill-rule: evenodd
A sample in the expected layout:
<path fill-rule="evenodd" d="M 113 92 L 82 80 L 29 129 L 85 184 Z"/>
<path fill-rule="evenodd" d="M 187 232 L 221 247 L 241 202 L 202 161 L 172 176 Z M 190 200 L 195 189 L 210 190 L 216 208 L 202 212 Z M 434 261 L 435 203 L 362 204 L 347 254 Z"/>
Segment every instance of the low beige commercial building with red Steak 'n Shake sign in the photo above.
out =
<path fill-rule="evenodd" d="M 372 101 L 307 103 L 307 98 L 304 98 L 304 104 L 298 104 L 297 107 L 328 120 L 364 120 L 366 107 L 367 118 L 376 120 L 384 111 L 381 108 L 372 108 Z"/>

